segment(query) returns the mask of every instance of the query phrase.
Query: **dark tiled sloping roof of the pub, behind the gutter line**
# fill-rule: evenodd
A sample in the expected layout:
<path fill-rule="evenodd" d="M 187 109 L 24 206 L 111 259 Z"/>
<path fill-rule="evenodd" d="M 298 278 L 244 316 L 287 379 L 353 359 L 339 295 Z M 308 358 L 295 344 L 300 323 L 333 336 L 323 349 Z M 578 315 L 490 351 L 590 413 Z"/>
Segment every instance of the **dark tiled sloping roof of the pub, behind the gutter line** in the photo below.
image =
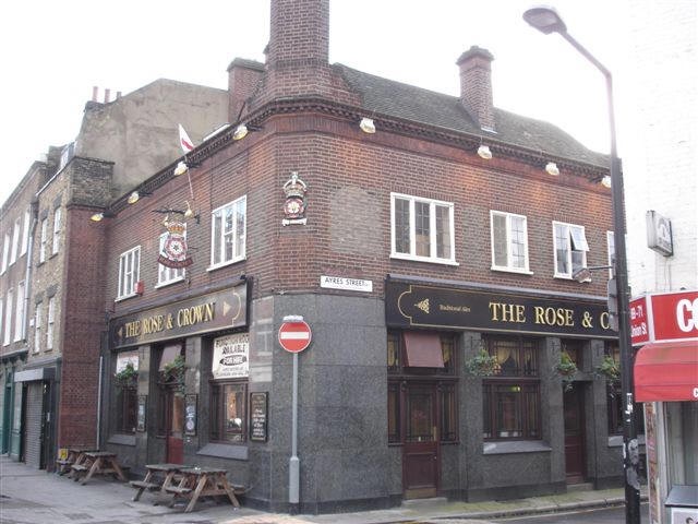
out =
<path fill-rule="evenodd" d="M 573 162 L 607 166 L 607 156 L 580 144 L 559 128 L 494 108 L 496 133 L 482 131 L 456 96 L 444 95 L 413 85 L 368 74 L 335 64 L 349 85 L 361 95 L 369 114 L 445 128 L 494 142 L 541 152 Z"/>

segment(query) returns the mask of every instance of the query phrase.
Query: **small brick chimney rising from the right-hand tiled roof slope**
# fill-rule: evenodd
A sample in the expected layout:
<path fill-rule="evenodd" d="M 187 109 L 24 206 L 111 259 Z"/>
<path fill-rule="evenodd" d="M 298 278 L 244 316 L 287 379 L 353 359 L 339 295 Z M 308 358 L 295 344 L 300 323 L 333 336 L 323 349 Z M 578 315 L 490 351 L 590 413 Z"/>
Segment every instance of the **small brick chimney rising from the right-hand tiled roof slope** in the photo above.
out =
<path fill-rule="evenodd" d="M 472 46 L 456 62 L 460 68 L 460 100 L 480 128 L 488 131 L 495 131 L 492 60 L 494 57 L 490 51 Z"/>

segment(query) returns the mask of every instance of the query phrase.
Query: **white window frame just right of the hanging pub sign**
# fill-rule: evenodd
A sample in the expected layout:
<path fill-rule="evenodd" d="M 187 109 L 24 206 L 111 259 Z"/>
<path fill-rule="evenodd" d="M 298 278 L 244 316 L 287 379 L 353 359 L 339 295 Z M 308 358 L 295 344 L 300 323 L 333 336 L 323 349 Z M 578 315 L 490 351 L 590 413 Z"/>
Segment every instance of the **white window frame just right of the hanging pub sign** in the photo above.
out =
<path fill-rule="evenodd" d="M 242 212 L 244 224 L 238 223 L 238 213 Z M 232 227 L 224 230 L 225 217 L 232 215 Z M 210 266 L 207 271 L 217 270 L 226 265 L 234 264 L 245 259 L 246 231 L 248 231 L 248 198 L 240 196 L 232 202 L 215 209 L 210 213 Z M 216 231 L 217 224 L 220 224 L 220 231 Z M 226 259 L 226 238 L 232 242 L 233 251 L 230 259 Z"/>

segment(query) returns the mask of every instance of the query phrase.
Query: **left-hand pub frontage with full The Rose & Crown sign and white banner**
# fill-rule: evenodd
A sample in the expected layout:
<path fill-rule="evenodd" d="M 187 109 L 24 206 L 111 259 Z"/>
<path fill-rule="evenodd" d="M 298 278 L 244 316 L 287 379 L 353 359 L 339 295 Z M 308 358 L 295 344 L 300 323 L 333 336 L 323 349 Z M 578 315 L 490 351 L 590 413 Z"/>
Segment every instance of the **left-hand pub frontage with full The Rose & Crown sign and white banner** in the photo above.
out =
<path fill-rule="evenodd" d="M 246 279 L 111 320 L 104 442 L 122 465 L 246 458 Z M 231 477 L 244 475 L 231 468 Z"/>

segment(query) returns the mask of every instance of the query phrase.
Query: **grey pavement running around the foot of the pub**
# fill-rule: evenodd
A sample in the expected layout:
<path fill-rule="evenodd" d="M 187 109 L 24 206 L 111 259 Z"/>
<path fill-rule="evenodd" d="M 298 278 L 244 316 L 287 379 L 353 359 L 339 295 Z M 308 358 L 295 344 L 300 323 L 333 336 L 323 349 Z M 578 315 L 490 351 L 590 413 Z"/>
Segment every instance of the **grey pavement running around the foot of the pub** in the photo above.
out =
<path fill-rule="evenodd" d="M 228 503 L 203 501 L 192 513 L 183 505 L 168 508 L 167 500 L 135 490 L 111 478 L 93 478 L 85 486 L 55 473 L 35 469 L 0 456 L 0 523 L 2 524 L 454 524 L 580 511 L 623 505 L 624 490 L 574 490 L 565 495 L 509 501 L 453 502 L 446 499 L 405 501 L 387 510 L 323 515 L 288 515 Z M 646 498 L 646 497 L 643 497 Z"/>

